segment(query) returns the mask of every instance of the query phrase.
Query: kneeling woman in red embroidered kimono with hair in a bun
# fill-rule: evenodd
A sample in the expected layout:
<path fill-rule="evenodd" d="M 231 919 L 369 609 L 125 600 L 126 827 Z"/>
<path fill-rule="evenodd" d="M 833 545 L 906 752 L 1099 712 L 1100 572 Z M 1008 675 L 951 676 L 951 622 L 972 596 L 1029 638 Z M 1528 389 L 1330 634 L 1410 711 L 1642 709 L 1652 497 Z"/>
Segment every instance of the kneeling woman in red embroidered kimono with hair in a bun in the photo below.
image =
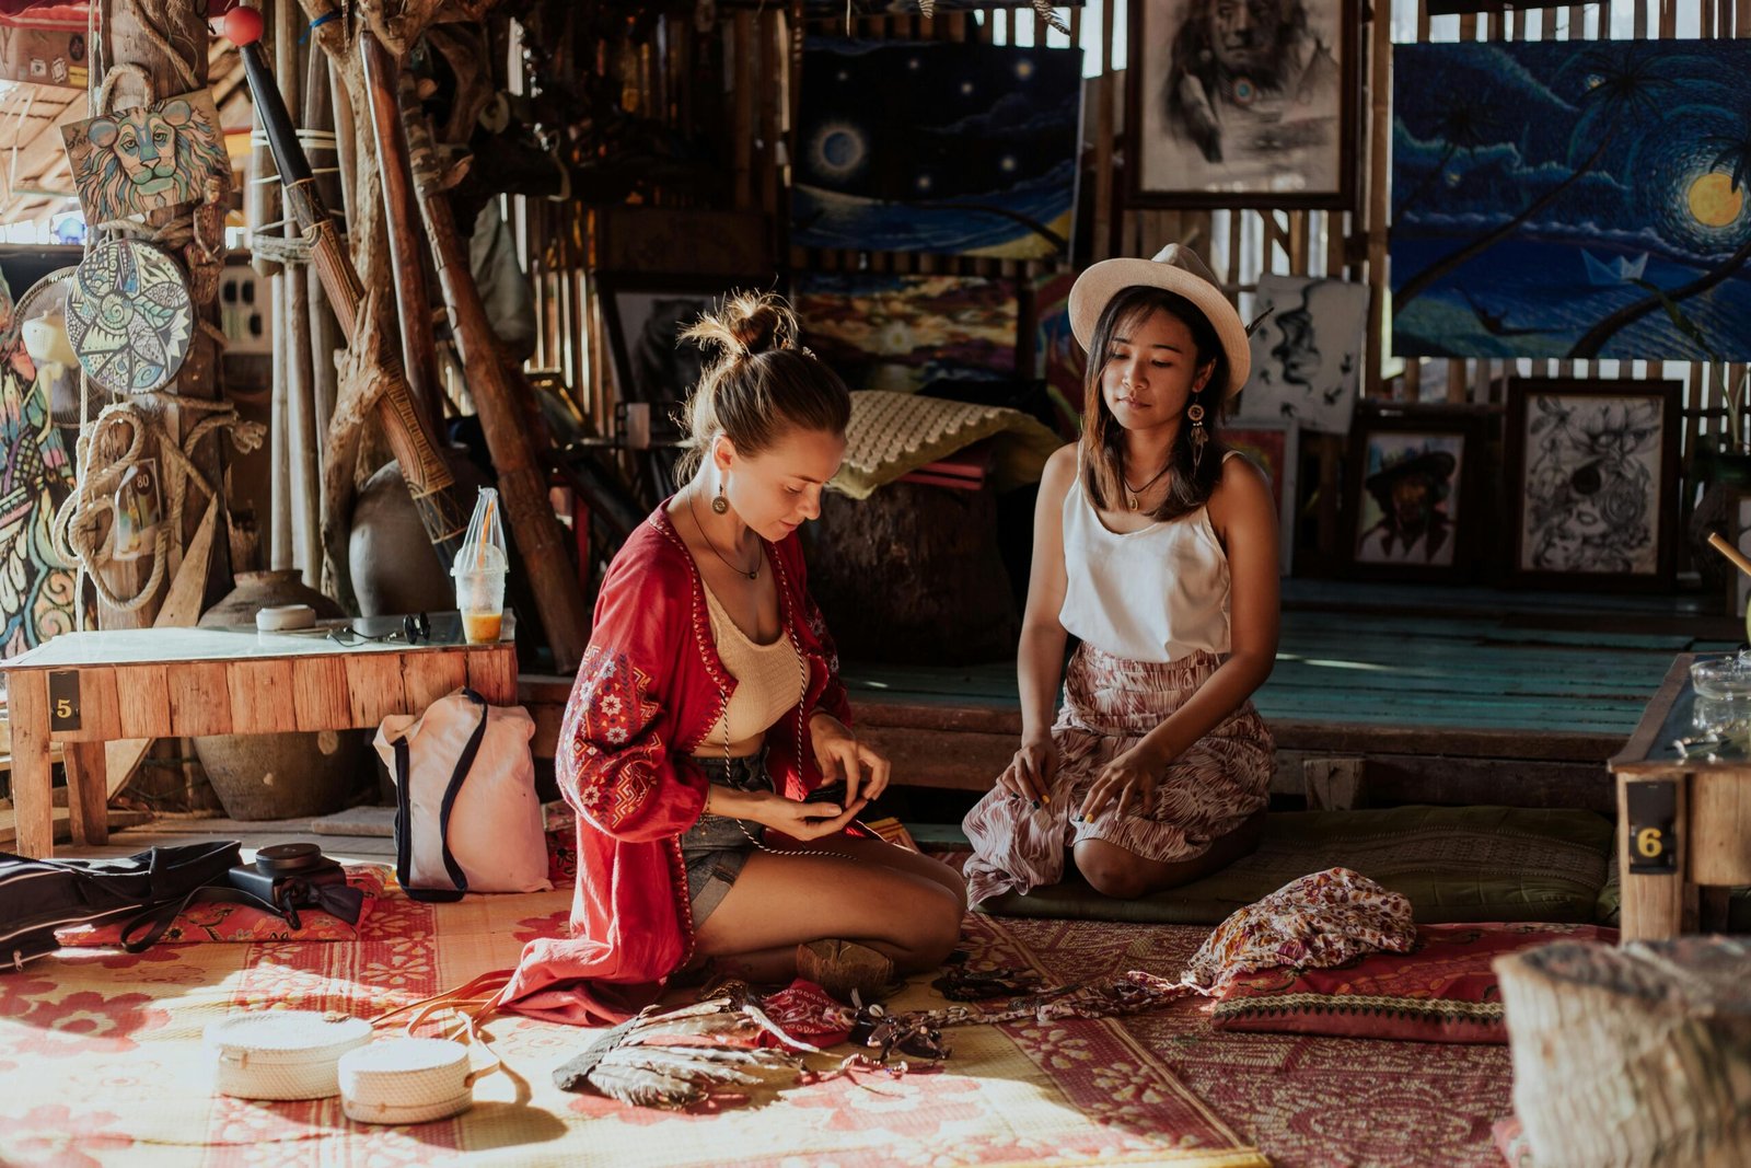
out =
<path fill-rule="evenodd" d="M 525 947 L 506 1009 L 601 1024 L 706 960 L 788 981 L 833 939 L 911 974 L 960 939 L 953 869 L 846 832 L 888 760 L 849 730 L 804 578 L 795 532 L 844 457 L 851 398 L 795 331 L 783 301 L 737 296 L 686 333 L 721 350 L 688 405 L 697 471 L 602 581 L 557 758 L 578 811 L 573 937 Z M 804 802 L 823 776 L 844 799 Z"/>

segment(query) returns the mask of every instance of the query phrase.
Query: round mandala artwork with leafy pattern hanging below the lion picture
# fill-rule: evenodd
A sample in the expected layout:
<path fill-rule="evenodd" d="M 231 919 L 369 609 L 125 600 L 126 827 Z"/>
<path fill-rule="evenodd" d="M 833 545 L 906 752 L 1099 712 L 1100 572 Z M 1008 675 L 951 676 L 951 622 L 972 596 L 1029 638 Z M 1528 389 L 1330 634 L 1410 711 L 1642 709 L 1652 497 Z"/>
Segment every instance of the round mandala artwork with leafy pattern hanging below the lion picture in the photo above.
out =
<path fill-rule="evenodd" d="M 93 382 L 147 394 L 189 355 L 194 305 L 170 256 L 137 240 L 100 243 L 79 264 L 67 298 L 67 336 Z"/>

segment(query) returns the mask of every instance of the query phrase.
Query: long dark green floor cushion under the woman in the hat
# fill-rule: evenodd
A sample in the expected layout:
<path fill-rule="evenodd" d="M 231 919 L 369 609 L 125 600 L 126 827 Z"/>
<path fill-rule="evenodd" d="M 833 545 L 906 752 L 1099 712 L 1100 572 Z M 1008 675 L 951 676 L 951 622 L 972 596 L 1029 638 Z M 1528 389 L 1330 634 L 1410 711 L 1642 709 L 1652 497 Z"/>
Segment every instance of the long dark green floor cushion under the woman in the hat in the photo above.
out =
<path fill-rule="evenodd" d="M 1389 807 L 1296 811 L 1266 820 L 1250 856 L 1191 884 L 1114 900 L 1073 869 L 1026 897 L 977 905 L 996 916 L 1219 925 L 1297 876 L 1345 867 L 1404 893 L 1417 921 L 1592 923 L 1606 884 L 1611 821 L 1592 811 Z"/>

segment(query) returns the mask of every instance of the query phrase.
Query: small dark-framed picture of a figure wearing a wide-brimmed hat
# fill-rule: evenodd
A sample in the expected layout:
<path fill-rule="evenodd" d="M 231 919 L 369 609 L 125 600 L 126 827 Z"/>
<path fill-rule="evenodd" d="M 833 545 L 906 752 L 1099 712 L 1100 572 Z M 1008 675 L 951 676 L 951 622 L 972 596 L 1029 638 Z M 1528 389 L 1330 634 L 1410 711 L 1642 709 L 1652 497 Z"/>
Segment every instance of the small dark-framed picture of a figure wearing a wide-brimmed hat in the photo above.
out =
<path fill-rule="evenodd" d="M 1350 426 L 1343 538 L 1366 580 L 1466 583 L 1476 562 L 1480 468 L 1488 434 L 1474 410 L 1368 406 Z"/>

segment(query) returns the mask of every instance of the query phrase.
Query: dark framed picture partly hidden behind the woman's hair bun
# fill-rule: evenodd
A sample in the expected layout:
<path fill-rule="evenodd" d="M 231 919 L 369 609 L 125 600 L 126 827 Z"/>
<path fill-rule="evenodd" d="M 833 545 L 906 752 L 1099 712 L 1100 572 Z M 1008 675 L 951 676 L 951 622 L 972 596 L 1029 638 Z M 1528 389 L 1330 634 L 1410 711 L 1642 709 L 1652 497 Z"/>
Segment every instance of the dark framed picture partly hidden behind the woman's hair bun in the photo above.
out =
<path fill-rule="evenodd" d="M 772 287 L 772 277 L 651 277 L 597 271 L 595 294 L 615 361 L 615 389 L 627 405 L 650 406 L 650 448 L 639 459 L 639 494 L 657 506 L 676 489 L 679 427 L 671 419 L 704 371 L 704 354 L 681 340 L 700 313 L 728 292 Z M 643 426 L 639 427 L 643 431 Z M 644 441 L 643 433 L 639 434 Z"/>

